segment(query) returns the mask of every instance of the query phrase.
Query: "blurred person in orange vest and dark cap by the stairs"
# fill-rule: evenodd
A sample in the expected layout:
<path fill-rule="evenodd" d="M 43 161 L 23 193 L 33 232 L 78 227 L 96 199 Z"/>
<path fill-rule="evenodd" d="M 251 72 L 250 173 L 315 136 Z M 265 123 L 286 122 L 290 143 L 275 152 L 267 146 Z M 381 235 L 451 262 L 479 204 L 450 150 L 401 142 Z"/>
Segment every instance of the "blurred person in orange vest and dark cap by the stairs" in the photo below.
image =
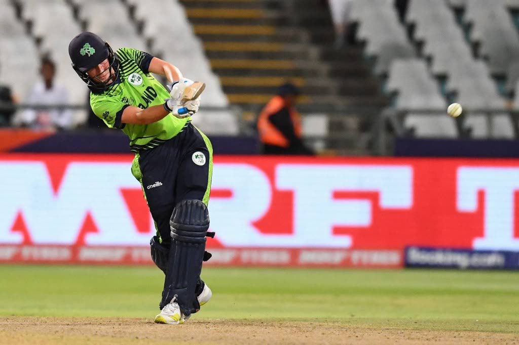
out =
<path fill-rule="evenodd" d="M 258 118 L 264 154 L 313 154 L 301 139 L 301 117 L 295 109 L 300 92 L 291 83 L 279 87 Z"/>

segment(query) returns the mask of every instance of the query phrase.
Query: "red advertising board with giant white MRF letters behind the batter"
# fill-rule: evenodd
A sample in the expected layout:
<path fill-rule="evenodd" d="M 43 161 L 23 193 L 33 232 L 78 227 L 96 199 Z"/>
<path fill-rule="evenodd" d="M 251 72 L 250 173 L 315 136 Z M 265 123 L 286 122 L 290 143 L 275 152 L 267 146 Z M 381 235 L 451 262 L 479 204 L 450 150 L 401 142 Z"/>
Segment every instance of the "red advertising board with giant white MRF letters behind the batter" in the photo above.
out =
<path fill-rule="evenodd" d="M 0 244 L 146 245 L 130 163 L 0 156 Z M 217 156 L 208 246 L 518 250 L 518 191 L 519 161 Z"/>

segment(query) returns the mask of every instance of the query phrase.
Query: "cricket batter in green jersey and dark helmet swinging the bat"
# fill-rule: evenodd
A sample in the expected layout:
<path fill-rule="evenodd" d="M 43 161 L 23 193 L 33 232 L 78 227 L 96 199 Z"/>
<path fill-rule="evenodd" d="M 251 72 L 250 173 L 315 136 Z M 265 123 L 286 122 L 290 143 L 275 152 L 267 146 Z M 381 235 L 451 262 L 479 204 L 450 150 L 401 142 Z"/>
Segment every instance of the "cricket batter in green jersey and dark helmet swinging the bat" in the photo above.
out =
<path fill-rule="evenodd" d="M 211 298 L 200 279 L 211 189 L 212 147 L 192 123 L 205 85 L 148 53 L 83 32 L 69 45 L 72 67 L 90 89 L 90 106 L 108 127 L 130 137 L 132 174 L 157 228 L 152 259 L 166 275 L 156 323 L 180 324 Z M 166 90 L 152 75 L 166 76 Z M 117 214 L 114 214 L 117 217 Z"/>

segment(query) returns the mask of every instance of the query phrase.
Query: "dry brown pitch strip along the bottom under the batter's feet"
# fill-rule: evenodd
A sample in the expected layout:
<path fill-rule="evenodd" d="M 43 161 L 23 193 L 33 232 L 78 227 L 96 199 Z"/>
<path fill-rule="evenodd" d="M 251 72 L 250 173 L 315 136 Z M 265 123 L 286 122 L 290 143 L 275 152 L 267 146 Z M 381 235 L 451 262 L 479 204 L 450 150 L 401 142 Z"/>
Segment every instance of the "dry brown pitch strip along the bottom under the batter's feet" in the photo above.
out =
<path fill-rule="evenodd" d="M 0 344 L 519 344 L 516 334 L 441 330 L 370 329 L 340 323 L 213 320 L 157 325 L 146 319 L 0 319 Z"/>

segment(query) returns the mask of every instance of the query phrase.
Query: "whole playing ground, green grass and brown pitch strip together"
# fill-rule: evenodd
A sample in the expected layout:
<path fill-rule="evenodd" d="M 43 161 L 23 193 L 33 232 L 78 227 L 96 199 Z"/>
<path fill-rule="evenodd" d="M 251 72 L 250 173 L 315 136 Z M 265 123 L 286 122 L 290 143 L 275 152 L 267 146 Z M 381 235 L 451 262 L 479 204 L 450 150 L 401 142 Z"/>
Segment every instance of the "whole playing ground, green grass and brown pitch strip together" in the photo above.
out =
<path fill-rule="evenodd" d="M 204 268 L 210 303 L 153 317 L 153 267 L 0 265 L 0 344 L 519 345 L 519 274 Z"/>

